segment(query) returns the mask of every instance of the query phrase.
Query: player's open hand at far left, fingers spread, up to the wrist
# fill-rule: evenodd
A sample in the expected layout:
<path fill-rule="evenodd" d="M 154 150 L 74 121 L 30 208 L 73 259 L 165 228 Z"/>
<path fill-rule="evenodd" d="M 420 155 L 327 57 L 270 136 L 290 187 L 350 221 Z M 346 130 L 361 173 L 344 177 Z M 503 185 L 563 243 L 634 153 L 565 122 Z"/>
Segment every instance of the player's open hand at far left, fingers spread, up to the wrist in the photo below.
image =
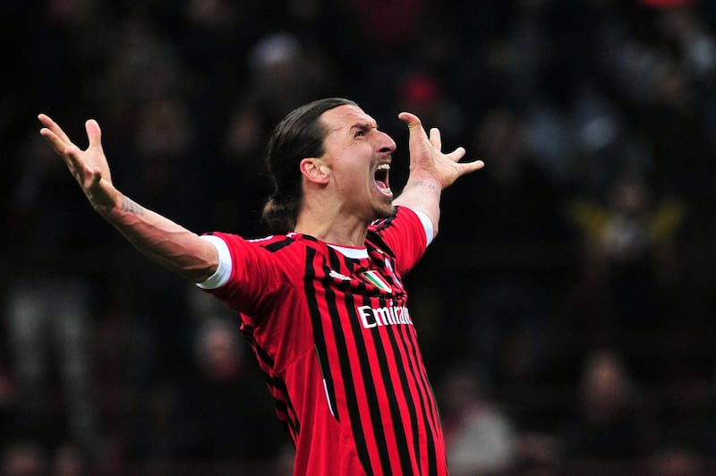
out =
<path fill-rule="evenodd" d="M 90 119 L 85 123 L 90 146 L 86 150 L 81 150 L 49 116 L 41 114 L 38 115 L 38 119 L 45 126 L 40 129 L 40 135 L 47 140 L 58 156 L 63 157 L 65 165 L 80 184 L 92 207 L 98 211 L 115 207 L 119 192 L 112 184 L 97 121 Z"/>

